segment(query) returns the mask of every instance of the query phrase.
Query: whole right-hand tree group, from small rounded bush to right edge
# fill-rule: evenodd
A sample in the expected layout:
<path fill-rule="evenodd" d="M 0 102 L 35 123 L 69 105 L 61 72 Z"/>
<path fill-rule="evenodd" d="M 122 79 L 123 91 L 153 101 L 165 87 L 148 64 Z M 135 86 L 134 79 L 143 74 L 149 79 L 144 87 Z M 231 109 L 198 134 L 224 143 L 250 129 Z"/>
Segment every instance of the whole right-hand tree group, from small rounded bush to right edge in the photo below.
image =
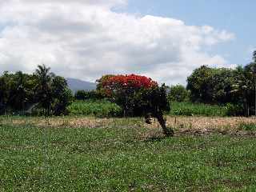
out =
<path fill-rule="evenodd" d="M 256 51 L 253 61 L 236 69 L 201 66 L 187 78 L 187 86 L 171 86 L 171 101 L 226 105 L 230 115 L 256 114 Z"/>

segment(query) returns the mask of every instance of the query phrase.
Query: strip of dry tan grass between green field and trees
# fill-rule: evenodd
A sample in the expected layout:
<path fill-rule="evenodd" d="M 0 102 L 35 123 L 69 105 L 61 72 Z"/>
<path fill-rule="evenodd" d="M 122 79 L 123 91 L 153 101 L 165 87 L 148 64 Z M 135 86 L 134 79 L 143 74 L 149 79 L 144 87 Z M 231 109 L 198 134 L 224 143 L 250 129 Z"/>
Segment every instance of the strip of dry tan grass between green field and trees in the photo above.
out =
<path fill-rule="evenodd" d="M 2 118 L 2 123 L 13 125 L 34 125 L 50 127 L 106 127 L 110 125 L 144 126 L 159 128 L 158 122 L 151 125 L 143 122 L 143 118 L 94 118 L 94 117 L 54 117 L 54 118 Z M 186 130 L 235 130 L 240 123 L 256 123 L 256 118 L 221 118 L 221 117 L 166 117 L 166 124 L 179 131 Z"/>

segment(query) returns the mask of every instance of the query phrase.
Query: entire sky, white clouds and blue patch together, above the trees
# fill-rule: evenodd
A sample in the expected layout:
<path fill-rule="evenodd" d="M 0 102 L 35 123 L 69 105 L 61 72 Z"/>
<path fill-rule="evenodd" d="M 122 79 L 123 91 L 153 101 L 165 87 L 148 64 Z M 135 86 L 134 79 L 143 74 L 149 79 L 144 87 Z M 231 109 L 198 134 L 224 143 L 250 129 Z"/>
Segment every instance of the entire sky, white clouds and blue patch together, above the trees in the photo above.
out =
<path fill-rule="evenodd" d="M 198 66 L 250 62 L 256 1 L 0 0 L 0 72 L 143 74 L 186 84 Z M 253 39 L 254 38 L 254 39 Z"/>

